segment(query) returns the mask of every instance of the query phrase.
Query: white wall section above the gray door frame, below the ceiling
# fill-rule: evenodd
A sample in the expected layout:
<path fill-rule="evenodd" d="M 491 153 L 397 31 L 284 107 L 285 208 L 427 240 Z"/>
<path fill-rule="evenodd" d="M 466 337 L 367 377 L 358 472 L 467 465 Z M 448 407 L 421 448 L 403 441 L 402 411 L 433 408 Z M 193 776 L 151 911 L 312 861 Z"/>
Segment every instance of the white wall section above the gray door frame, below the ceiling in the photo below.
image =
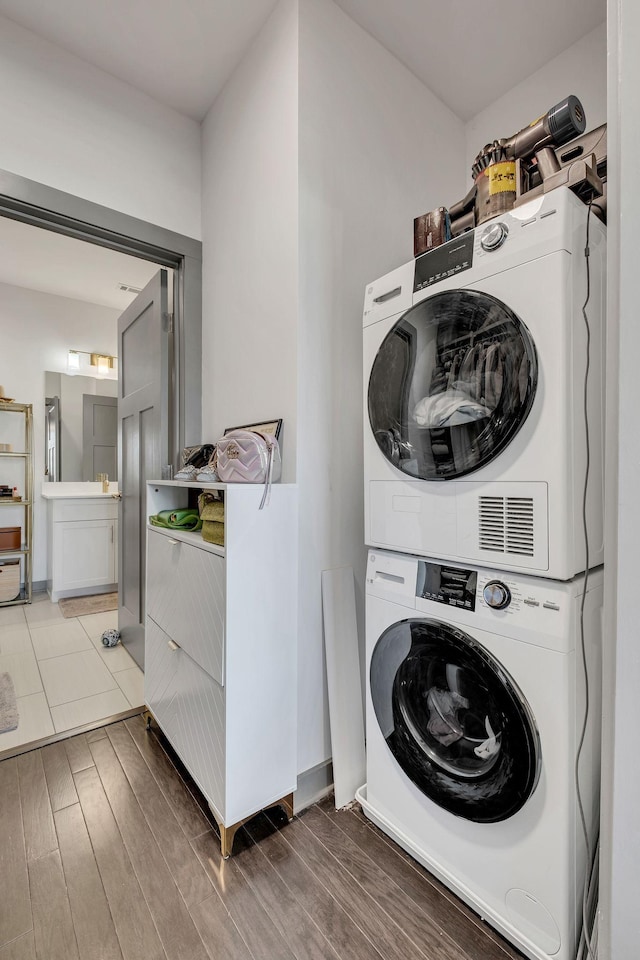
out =
<path fill-rule="evenodd" d="M 200 237 L 200 126 L 0 17 L 0 169 Z"/>

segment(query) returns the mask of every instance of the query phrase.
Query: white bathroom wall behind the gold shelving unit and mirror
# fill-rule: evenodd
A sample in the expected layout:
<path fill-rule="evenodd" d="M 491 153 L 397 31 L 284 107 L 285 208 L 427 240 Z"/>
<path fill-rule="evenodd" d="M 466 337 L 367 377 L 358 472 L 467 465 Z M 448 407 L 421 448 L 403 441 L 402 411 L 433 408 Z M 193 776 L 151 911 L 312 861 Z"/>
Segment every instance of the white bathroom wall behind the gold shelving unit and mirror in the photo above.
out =
<path fill-rule="evenodd" d="M 44 478 L 45 370 L 66 371 L 69 349 L 115 355 L 119 314 L 109 307 L 0 284 L 0 384 L 8 396 L 33 404 L 35 581 L 46 580 L 46 502 L 40 496 Z M 0 432 L 4 429 L 6 426 L 0 424 Z M 3 471 L 7 463 L 2 462 Z M 14 483 L 18 482 L 16 477 Z M 9 483 L 9 479 L 0 476 L 0 483 Z M 20 514 L 11 520 L 7 514 L 5 522 L 3 513 L 3 526 L 19 523 Z"/>

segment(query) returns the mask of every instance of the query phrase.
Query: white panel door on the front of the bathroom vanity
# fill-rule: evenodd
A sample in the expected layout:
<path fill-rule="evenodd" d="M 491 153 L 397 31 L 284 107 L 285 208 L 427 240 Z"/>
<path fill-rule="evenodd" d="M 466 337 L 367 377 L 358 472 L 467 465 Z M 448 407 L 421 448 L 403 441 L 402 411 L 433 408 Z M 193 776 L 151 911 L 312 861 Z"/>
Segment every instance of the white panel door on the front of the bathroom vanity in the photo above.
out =
<path fill-rule="evenodd" d="M 115 582 L 115 520 L 54 524 L 56 593 Z"/>

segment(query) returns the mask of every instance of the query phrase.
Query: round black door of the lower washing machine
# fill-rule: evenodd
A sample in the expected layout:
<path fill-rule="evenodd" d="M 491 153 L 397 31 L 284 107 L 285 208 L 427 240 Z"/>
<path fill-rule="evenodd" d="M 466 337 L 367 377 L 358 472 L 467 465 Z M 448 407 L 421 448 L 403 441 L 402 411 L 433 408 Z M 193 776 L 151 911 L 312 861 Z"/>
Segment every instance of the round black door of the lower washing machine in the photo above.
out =
<path fill-rule="evenodd" d="M 431 800 L 477 823 L 513 816 L 533 793 L 540 744 L 514 681 L 472 637 L 403 620 L 376 644 L 373 707 L 391 753 Z"/>

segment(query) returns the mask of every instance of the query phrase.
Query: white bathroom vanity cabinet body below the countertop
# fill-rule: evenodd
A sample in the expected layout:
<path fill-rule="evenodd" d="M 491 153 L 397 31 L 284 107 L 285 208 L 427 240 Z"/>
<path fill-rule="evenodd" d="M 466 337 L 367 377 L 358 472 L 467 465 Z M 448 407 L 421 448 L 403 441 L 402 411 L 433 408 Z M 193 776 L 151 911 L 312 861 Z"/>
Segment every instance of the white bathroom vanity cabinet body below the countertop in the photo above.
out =
<path fill-rule="evenodd" d="M 61 597 L 117 589 L 118 505 L 112 499 L 49 500 L 47 589 Z"/>

